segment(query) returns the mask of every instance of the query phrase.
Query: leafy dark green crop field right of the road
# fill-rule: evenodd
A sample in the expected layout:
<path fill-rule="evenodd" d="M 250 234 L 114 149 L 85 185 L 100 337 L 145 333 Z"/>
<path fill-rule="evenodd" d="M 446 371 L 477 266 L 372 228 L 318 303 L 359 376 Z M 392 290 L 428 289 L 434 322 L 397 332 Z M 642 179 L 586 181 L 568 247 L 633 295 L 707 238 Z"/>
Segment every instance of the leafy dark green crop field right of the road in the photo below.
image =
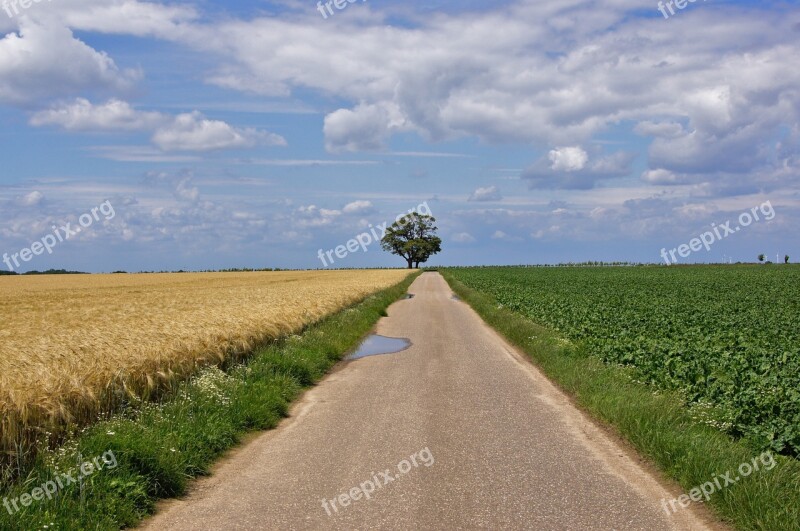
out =
<path fill-rule="evenodd" d="M 800 455 L 800 268 L 454 269 L 468 287 L 557 330 L 577 355 L 633 367 L 698 418 Z"/>

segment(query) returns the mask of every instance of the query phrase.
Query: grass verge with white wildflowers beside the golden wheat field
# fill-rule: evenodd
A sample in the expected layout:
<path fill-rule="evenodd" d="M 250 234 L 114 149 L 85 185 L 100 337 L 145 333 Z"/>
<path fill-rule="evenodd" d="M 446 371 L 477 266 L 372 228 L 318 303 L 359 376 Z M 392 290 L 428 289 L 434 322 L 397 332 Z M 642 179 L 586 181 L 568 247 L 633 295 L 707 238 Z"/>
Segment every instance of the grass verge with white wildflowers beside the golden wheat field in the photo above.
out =
<path fill-rule="evenodd" d="M 160 403 L 133 402 L 57 451 L 42 450 L 26 478 L 0 493 L 0 529 L 136 525 L 157 500 L 185 493 L 243 435 L 274 428 L 416 276 L 257 350 L 244 364 L 205 369 Z"/>

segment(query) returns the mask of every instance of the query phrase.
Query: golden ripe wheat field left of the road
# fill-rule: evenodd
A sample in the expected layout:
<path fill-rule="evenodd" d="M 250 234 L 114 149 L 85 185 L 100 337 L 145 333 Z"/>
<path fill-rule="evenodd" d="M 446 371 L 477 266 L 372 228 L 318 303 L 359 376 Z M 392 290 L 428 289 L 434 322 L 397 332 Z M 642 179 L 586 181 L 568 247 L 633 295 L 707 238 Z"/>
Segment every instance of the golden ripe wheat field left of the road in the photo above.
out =
<path fill-rule="evenodd" d="M 147 395 L 407 274 L 0 277 L 0 445 L 26 442 L 31 428 L 87 422 L 121 390 Z"/>

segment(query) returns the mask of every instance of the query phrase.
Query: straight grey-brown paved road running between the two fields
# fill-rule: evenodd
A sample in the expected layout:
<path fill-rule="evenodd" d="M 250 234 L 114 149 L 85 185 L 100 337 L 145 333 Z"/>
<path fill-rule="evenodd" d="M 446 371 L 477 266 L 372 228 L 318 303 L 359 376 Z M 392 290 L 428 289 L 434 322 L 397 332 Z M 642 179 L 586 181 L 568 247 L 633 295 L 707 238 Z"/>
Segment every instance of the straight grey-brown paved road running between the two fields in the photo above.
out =
<path fill-rule="evenodd" d="M 709 529 L 438 273 L 410 292 L 378 332 L 411 348 L 342 364 L 145 527 Z"/>

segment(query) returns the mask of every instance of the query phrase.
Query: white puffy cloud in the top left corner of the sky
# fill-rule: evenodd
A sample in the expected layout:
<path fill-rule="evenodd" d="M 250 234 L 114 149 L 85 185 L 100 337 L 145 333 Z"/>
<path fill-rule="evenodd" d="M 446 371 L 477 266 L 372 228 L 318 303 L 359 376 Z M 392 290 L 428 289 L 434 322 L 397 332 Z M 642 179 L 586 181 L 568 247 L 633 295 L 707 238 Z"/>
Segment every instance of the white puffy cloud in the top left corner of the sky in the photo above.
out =
<path fill-rule="evenodd" d="M 139 0 L 36 2 L 20 11 L 0 17 L 0 103 L 26 108 L 87 92 L 125 94 L 141 80 L 141 70 L 120 68 L 74 32 L 174 40 L 199 17 L 190 6 Z"/>

